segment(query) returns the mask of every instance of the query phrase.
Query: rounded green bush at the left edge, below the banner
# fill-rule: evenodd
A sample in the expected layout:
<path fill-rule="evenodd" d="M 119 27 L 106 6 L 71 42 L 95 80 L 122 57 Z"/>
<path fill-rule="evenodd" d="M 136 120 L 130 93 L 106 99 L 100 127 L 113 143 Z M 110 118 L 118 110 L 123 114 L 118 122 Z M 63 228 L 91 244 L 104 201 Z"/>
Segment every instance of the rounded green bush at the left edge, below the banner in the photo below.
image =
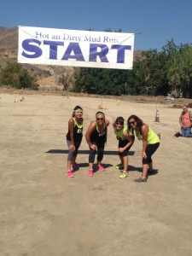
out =
<path fill-rule="evenodd" d="M 38 89 L 33 77 L 21 66 L 21 64 L 16 62 L 8 63 L 7 66 L 2 69 L 0 73 L 0 85 L 11 86 L 17 89 Z"/>

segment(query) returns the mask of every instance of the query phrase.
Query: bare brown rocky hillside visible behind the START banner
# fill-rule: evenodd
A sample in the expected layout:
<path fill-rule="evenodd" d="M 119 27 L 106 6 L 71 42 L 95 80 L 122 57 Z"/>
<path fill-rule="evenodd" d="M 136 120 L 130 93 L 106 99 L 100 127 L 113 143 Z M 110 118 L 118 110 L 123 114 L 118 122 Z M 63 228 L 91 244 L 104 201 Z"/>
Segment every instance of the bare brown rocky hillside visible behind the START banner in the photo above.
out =
<path fill-rule="evenodd" d="M 18 29 L 5 28 L 0 26 L 0 68 L 7 62 L 17 61 L 18 51 Z M 141 56 L 141 51 L 134 53 L 134 58 Z M 70 87 L 73 77 L 73 67 L 30 65 L 23 66 L 35 76 L 40 88 L 67 90 Z"/>

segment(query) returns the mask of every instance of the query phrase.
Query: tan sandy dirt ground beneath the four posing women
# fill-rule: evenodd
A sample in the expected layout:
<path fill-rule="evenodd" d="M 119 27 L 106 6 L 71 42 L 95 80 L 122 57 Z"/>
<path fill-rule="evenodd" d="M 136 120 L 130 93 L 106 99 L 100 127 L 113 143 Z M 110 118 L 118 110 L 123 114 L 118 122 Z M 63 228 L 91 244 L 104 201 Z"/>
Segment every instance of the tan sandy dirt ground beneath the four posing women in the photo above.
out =
<path fill-rule="evenodd" d="M 0 94 L 1 256 L 192 255 L 192 139 L 173 137 L 180 108 L 148 98 L 32 94 L 20 100 L 14 93 Z M 129 156 L 130 176 L 119 179 L 112 125 L 106 171 L 87 175 L 84 138 L 79 171 L 67 177 L 67 121 L 73 108 L 82 106 L 85 132 L 99 104 L 111 123 L 134 113 L 160 132 L 156 174 L 147 183 L 134 182 L 142 172 L 137 139 Z M 154 122 L 156 109 L 160 122 Z"/>

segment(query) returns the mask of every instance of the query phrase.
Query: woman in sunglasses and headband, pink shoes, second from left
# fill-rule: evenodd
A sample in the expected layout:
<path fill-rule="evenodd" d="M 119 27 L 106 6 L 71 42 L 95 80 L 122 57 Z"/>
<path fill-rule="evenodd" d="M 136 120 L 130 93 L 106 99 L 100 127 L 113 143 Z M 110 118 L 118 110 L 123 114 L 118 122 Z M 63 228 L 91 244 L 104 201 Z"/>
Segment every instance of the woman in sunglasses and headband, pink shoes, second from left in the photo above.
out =
<path fill-rule="evenodd" d="M 97 148 L 97 167 L 100 171 L 105 171 L 105 168 L 102 166 L 102 158 L 105 143 L 107 142 L 108 135 L 108 119 L 105 119 L 105 114 L 101 111 L 96 113 L 96 120 L 90 122 L 85 138 L 90 147 L 89 154 L 89 172 L 90 177 L 93 176 L 93 164 L 96 158 L 96 148 Z"/>

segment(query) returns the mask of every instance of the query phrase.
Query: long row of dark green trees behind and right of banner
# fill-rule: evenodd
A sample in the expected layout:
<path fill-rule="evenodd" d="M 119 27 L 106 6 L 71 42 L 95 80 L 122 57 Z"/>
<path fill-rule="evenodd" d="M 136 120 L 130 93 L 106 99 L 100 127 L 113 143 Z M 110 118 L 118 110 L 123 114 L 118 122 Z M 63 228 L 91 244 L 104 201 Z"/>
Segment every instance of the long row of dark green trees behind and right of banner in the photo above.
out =
<path fill-rule="evenodd" d="M 108 28 L 106 31 L 111 32 Z M 120 31 L 120 30 L 119 30 Z M 100 95 L 175 93 L 192 97 L 192 46 L 168 41 L 162 50 L 143 51 L 132 70 L 75 68 L 73 91 Z"/>

